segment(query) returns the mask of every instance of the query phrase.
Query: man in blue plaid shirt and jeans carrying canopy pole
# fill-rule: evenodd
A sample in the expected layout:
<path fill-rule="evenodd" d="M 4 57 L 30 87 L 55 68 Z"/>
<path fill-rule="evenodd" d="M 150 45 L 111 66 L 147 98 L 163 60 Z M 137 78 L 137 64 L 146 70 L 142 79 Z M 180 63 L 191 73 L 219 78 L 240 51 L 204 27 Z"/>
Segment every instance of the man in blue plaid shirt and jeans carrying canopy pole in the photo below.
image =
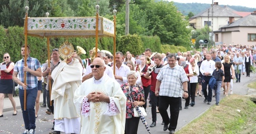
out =
<path fill-rule="evenodd" d="M 36 128 L 36 116 L 34 116 L 34 105 L 36 103 L 38 91 L 37 77 L 42 76 L 42 70 L 41 64 L 38 61 L 38 59 L 29 56 L 30 49 L 28 45 L 27 51 L 25 51 L 25 45 L 23 45 L 21 47 L 21 55 L 23 58 L 17 61 L 14 66 L 13 80 L 15 83 L 19 84 L 19 99 L 22 110 L 22 116 L 26 128 L 24 134 L 33 134 L 35 132 L 34 129 Z M 25 61 L 25 59 L 27 60 Z M 17 77 L 18 74 L 19 78 Z M 27 90 L 26 93 L 25 90 Z M 27 103 L 24 101 L 24 98 L 26 98 L 25 100 Z M 24 108 L 25 106 L 27 107 L 26 109 Z"/>

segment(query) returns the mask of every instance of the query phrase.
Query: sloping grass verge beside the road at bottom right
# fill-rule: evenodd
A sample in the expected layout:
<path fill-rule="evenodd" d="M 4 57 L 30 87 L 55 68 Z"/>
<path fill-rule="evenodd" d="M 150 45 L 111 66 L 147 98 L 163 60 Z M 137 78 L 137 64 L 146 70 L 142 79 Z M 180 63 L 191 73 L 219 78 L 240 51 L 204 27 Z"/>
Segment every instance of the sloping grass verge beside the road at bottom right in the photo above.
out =
<path fill-rule="evenodd" d="M 230 95 L 176 133 L 256 133 L 255 111 L 249 97 Z"/>

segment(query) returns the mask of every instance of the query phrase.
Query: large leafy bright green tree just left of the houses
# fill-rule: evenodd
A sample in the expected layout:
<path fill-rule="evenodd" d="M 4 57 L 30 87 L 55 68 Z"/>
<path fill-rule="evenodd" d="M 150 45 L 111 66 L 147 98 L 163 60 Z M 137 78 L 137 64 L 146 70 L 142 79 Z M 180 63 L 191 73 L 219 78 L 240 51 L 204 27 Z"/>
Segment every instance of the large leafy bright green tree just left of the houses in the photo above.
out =
<path fill-rule="evenodd" d="M 191 30 L 187 20 L 182 18 L 182 14 L 177 11 L 173 2 L 160 1 L 152 4 L 152 8 L 147 9 L 150 18 L 149 30 L 154 30 L 153 35 L 161 39 L 162 44 L 190 47 Z"/>

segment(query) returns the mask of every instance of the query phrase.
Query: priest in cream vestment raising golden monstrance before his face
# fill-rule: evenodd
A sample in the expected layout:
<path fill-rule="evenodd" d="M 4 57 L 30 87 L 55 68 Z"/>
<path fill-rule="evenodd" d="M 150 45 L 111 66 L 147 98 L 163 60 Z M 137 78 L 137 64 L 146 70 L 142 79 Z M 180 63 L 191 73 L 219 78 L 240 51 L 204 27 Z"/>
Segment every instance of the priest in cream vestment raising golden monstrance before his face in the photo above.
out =
<path fill-rule="evenodd" d="M 82 84 L 82 64 L 76 58 L 61 62 L 52 72 L 51 100 L 54 100 L 54 131 L 80 133 L 80 116 L 74 105 L 74 92 Z"/>

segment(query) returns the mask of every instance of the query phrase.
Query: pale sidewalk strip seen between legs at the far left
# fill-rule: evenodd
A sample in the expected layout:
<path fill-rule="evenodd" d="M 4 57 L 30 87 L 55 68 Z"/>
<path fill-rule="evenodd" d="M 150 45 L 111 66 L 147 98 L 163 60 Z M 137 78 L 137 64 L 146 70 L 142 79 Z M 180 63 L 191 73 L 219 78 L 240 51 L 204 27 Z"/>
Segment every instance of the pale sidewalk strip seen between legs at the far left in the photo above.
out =
<path fill-rule="evenodd" d="M 19 97 L 14 97 L 14 100 L 16 102 L 16 109 L 21 109 L 20 107 L 20 101 L 19 101 Z M 43 93 L 41 93 L 40 95 L 40 104 L 41 102 L 43 102 Z M 11 105 L 11 102 L 9 100 L 9 98 L 5 98 L 4 99 L 4 110 L 3 112 L 7 112 L 7 111 L 12 111 L 13 110 L 13 105 Z"/>

